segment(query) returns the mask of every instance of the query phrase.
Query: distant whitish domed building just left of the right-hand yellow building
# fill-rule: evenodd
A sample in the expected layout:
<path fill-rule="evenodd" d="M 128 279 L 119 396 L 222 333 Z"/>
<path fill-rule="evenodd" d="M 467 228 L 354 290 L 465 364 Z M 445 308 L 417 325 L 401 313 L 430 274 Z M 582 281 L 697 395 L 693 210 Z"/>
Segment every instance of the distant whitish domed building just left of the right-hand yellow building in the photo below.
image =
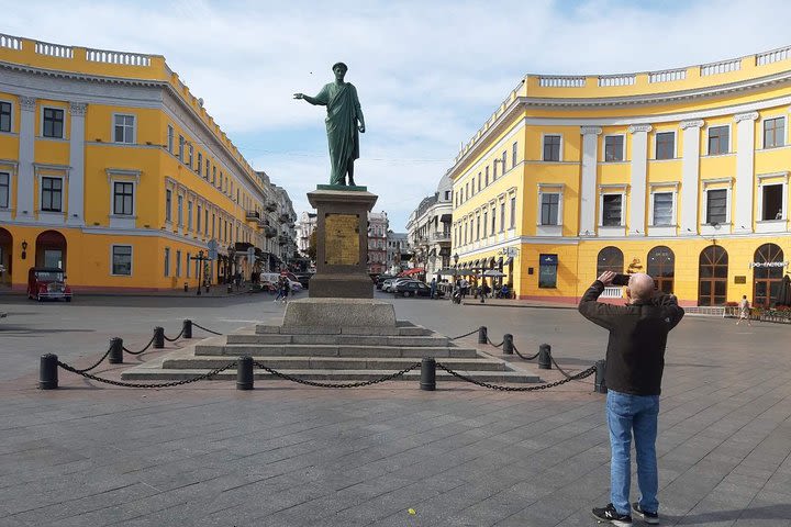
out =
<path fill-rule="evenodd" d="M 412 264 L 425 269 L 425 277 L 450 267 L 450 229 L 453 223 L 453 181 L 448 171 L 436 192 L 424 198 L 410 214 L 406 232 L 412 246 Z"/>

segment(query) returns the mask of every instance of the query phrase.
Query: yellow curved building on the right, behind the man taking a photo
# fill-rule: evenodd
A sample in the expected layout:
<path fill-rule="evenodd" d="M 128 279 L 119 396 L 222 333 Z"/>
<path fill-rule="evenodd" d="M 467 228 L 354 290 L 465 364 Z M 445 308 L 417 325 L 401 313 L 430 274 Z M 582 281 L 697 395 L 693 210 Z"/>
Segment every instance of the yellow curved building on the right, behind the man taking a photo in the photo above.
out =
<path fill-rule="evenodd" d="M 576 302 L 616 270 L 684 305 L 769 303 L 791 254 L 790 111 L 791 47 L 528 75 L 450 169 L 458 266 L 501 269 L 522 299 Z"/>

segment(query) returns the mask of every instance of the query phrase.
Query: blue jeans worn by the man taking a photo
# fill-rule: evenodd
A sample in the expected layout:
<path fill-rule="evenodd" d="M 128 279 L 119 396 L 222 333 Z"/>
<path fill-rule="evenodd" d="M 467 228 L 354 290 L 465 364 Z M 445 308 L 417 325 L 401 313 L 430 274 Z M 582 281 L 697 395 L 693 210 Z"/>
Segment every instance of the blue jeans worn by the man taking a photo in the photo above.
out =
<path fill-rule="evenodd" d="M 631 514 L 632 433 L 637 455 L 639 505 L 647 513 L 659 509 L 659 476 L 656 462 L 659 395 L 630 395 L 608 391 L 606 416 L 610 427 L 610 501 L 620 514 Z"/>

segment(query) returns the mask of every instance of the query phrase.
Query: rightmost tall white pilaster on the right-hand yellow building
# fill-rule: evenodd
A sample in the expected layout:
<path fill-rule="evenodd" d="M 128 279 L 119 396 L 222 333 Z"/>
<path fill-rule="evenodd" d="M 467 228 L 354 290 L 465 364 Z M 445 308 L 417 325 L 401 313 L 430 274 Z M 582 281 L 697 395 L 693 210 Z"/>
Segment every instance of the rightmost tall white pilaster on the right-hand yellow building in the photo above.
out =
<path fill-rule="evenodd" d="M 732 233 L 753 232 L 753 194 L 755 188 L 755 120 L 758 112 L 734 115 L 736 121 L 736 184 Z"/>

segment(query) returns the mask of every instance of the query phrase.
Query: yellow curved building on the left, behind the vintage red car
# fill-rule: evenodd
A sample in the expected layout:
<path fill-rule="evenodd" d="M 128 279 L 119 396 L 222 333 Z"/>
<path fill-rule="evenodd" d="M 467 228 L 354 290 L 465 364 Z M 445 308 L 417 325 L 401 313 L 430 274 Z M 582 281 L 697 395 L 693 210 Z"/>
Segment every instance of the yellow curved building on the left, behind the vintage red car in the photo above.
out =
<path fill-rule="evenodd" d="M 248 278 L 287 245 L 286 201 L 164 57 L 0 35 L 3 287 L 33 266 L 77 292 Z"/>

